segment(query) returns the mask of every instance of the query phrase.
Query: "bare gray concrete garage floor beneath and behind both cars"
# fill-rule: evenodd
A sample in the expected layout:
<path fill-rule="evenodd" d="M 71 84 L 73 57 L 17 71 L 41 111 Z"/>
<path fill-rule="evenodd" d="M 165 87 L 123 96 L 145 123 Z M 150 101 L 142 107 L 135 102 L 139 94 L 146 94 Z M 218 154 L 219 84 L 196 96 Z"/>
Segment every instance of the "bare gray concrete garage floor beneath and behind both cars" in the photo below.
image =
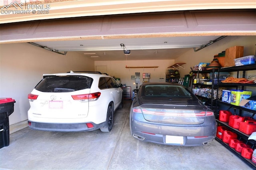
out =
<path fill-rule="evenodd" d="M 129 108 L 116 111 L 111 132 L 24 128 L 0 149 L 0 170 L 250 170 L 216 140 L 203 147 L 165 146 L 132 137 Z"/>

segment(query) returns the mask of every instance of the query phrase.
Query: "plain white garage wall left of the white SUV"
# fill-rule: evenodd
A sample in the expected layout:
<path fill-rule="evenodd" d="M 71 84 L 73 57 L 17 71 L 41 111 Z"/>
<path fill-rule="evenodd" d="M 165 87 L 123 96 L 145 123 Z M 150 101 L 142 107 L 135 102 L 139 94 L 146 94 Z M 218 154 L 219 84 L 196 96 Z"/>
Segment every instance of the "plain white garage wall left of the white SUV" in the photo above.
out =
<path fill-rule="evenodd" d="M 11 97 L 14 113 L 10 125 L 26 121 L 28 93 L 42 79 L 43 73 L 94 71 L 94 61 L 76 52 L 61 55 L 29 43 L 0 44 L 0 97 Z"/>

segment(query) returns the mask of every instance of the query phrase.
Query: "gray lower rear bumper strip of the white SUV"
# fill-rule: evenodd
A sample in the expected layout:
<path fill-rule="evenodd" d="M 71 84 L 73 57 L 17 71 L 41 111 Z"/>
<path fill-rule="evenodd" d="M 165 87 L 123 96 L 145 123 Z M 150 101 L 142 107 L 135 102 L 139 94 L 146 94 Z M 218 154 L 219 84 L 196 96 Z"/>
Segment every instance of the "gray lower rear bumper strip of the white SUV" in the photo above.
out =
<path fill-rule="evenodd" d="M 91 123 L 92 128 L 88 128 L 86 123 Z M 40 123 L 28 121 L 28 127 L 35 130 L 58 131 L 58 132 L 86 132 L 104 127 L 105 122 L 95 124 L 92 122 L 86 123 Z"/>

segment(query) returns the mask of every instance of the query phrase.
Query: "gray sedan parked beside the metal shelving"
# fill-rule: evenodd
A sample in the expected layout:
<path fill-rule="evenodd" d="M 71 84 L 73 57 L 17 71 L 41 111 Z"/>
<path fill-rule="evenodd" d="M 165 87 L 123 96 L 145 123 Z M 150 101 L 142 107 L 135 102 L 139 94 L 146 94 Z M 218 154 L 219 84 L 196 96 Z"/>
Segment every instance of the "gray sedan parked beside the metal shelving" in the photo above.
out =
<path fill-rule="evenodd" d="M 203 146 L 216 129 L 214 112 L 178 83 L 143 83 L 130 108 L 131 134 L 145 142 Z"/>

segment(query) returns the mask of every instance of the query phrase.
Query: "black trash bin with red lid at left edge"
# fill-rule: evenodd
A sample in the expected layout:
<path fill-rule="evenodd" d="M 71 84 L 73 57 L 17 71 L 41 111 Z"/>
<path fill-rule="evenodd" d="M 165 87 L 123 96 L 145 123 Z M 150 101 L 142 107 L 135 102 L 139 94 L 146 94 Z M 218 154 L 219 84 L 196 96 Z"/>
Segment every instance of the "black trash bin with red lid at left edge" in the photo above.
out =
<path fill-rule="evenodd" d="M 10 144 L 9 116 L 14 111 L 14 103 L 12 98 L 0 98 L 0 148 Z"/>

